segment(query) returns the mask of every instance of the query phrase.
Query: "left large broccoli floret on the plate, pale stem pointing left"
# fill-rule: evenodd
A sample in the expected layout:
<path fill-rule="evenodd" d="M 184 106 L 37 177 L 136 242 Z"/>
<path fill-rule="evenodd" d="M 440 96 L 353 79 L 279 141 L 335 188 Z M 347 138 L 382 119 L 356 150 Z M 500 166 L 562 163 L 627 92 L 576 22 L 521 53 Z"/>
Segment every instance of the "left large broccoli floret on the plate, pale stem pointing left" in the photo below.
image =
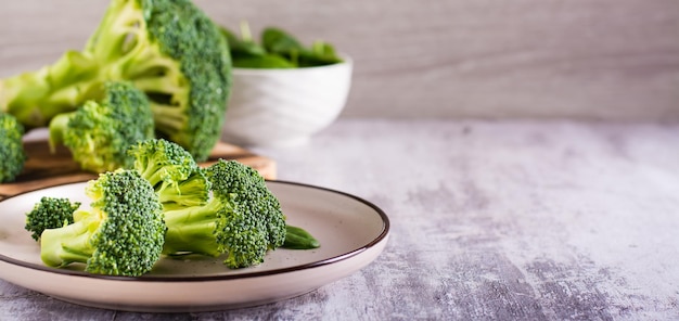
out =
<path fill-rule="evenodd" d="M 161 203 L 134 170 L 101 174 L 90 181 L 89 209 L 74 213 L 74 223 L 42 232 L 40 257 L 49 267 L 86 264 L 85 270 L 138 277 L 159 259 L 165 240 Z"/>

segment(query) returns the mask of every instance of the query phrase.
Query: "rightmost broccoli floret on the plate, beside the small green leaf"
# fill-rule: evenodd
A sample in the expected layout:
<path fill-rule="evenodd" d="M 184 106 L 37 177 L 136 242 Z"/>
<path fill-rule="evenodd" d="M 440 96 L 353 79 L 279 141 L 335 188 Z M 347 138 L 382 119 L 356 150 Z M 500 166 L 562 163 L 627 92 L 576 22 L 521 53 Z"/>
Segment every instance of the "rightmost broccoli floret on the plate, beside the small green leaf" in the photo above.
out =
<path fill-rule="evenodd" d="M 202 206 L 166 210 L 165 254 L 226 254 L 229 268 L 264 261 L 283 245 L 285 217 L 278 198 L 253 168 L 220 159 L 205 168 L 212 197 Z"/>

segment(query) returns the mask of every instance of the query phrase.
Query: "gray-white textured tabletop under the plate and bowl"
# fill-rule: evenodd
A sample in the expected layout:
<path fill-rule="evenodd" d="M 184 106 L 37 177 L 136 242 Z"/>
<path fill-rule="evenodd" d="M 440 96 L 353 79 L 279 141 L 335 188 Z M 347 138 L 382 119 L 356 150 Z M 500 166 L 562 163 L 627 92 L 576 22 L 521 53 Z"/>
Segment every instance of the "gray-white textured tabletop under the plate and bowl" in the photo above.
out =
<path fill-rule="evenodd" d="M 0 281 L 0 320 L 679 318 L 679 126 L 343 119 L 258 149 L 392 219 L 368 268 L 240 310 L 85 308 Z"/>

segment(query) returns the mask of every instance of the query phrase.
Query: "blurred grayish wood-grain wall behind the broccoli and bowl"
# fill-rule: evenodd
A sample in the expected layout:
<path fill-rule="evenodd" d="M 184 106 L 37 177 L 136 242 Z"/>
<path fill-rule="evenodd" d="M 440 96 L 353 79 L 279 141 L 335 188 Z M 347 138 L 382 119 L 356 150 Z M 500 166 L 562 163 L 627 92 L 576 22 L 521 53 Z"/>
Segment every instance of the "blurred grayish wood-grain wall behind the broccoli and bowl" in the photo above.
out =
<path fill-rule="evenodd" d="M 107 0 L 0 0 L 0 77 L 80 49 Z M 679 120 L 676 0 L 196 0 L 350 55 L 341 117 Z"/>

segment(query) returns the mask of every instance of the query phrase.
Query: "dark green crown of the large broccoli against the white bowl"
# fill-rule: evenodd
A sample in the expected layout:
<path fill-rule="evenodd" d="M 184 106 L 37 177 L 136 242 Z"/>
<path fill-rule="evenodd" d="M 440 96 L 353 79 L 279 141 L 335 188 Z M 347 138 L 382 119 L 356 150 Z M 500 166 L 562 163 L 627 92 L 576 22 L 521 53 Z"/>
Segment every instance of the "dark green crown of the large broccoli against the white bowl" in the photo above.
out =
<path fill-rule="evenodd" d="M 196 160 L 205 160 L 221 133 L 231 87 L 227 42 L 219 27 L 191 1 L 143 3 L 149 31 L 163 53 L 179 61 L 190 88 L 187 102 L 164 87 L 149 88 L 153 93 L 165 94 L 170 102 L 154 102 L 156 126 L 169 140 L 188 149 Z"/>

